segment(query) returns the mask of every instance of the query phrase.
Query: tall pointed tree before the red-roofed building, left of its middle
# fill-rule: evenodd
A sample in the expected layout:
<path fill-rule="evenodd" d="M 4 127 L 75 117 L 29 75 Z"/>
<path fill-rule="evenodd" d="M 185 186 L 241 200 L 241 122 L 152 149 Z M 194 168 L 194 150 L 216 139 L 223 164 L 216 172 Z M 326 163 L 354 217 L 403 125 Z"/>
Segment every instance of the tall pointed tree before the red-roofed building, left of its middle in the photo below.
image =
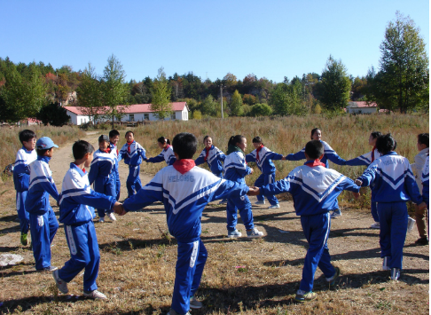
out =
<path fill-rule="evenodd" d="M 112 119 L 113 128 L 114 118 L 120 121 L 127 108 L 129 87 L 125 83 L 125 77 L 126 74 L 120 61 L 114 55 L 111 55 L 107 59 L 107 65 L 103 71 L 101 91 L 103 112 Z"/>

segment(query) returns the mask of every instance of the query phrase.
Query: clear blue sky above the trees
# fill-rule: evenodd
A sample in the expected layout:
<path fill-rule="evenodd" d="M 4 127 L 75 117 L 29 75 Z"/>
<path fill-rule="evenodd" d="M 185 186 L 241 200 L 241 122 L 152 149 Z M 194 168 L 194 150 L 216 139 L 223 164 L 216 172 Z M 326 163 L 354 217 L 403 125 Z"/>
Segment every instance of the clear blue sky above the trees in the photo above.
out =
<path fill-rule="evenodd" d="M 255 74 L 274 82 L 321 74 L 330 55 L 353 76 L 379 67 L 396 11 L 427 44 L 428 0 L 0 0 L 0 58 L 103 74 L 109 56 L 126 80 L 192 72 L 202 80 Z"/>

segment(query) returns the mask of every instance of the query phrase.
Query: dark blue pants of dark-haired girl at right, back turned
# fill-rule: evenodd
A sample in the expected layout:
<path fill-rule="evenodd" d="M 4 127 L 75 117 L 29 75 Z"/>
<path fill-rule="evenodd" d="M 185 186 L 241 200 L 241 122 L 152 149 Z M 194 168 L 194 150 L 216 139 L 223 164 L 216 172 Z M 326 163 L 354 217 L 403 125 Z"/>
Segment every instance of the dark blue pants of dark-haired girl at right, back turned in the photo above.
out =
<path fill-rule="evenodd" d="M 403 248 L 407 234 L 407 206 L 401 202 L 379 202 L 380 256 L 390 257 L 390 268 L 403 268 Z"/>

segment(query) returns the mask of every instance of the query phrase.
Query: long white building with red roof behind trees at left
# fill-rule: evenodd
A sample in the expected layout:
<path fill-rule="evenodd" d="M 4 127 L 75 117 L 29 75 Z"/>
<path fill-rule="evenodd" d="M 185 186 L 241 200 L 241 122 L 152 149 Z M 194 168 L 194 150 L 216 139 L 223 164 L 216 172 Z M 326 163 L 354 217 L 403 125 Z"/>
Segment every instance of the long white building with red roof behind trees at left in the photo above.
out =
<path fill-rule="evenodd" d="M 121 107 L 121 105 L 120 105 Z M 70 116 L 70 122 L 76 125 L 90 122 L 91 118 L 88 114 L 82 111 L 80 106 L 65 106 L 67 114 Z M 189 106 L 186 102 L 173 102 L 172 115 L 165 120 L 188 121 L 189 120 Z M 151 109 L 151 104 L 134 104 L 123 109 L 123 116 L 121 122 L 144 122 L 144 121 L 158 121 L 157 115 Z M 98 118 L 96 122 L 109 121 L 107 118 Z"/>

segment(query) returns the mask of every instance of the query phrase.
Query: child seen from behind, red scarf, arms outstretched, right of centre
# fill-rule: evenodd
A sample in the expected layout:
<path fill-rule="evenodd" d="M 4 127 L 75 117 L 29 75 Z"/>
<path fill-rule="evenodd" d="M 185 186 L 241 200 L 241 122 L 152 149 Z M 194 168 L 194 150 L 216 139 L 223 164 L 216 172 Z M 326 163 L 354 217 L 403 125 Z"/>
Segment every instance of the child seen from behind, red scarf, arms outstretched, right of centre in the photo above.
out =
<path fill-rule="evenodd" d="M 294 298 L 299 303 L 317 298 L 316 293 L 312 292 L 317 266 L 331 286 L 340 276 L 340 269 L 331 264 L 327 246 L 331 229 L 329 211 L 333 209 L 337 196 L 343 190 L 353 192 L 355 198 L 359 196 L 359 187 L 349 177 L 334 169 L 327 169 L 325 163 L 320 161 L 325 155 L 325 145 L 321 141 L 312 140 L 307 143 L 304 154 L 307 160 L 305 164 L 292 170 L 285 179 L 257 189 L 251 187 L 248 193 L 268 196 L 287 192 L 294 197 L 296 215 L 301 216 L 302 230 L 310 244 L 305 256 L 300 288 Z"/>

